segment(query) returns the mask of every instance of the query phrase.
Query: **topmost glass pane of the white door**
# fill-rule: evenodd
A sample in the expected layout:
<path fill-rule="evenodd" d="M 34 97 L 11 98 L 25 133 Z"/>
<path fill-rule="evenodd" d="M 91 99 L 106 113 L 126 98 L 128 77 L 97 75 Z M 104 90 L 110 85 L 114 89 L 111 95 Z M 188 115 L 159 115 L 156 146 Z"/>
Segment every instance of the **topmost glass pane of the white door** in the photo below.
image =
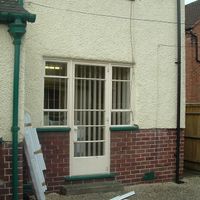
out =
<path fill-rule="evenodd" d="M 105 78 L 104 66 L 76 65 L 75 76 L 80 78 Z"/>

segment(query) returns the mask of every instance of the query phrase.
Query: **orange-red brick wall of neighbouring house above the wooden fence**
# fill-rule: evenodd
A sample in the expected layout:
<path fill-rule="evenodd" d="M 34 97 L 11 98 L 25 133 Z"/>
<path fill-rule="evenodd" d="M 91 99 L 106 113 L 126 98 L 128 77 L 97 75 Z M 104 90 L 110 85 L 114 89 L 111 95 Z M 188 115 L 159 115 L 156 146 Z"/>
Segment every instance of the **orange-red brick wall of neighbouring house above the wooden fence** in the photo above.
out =
<path fill-rule="evenodd" d="M 200 42 L 200 23 L 197 24 L 193 33 L 198 36 Z M 196 62 L 195 41 L 186 33 L 186 103 L 200 102 L 200 63 Z M 199 48 L 200 59 L 200 48 Z"/>

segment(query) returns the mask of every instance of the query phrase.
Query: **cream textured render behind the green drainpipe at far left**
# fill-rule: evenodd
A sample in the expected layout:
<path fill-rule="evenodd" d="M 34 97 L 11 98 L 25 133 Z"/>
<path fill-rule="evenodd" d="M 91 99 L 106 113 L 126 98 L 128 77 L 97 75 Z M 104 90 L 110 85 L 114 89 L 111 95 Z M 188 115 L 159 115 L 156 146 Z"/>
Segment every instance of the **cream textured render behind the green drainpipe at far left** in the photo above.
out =
<path fill-rule="evenodd" d="M 0 25 L 0 138 L 11 141 L 14 45 L 6 25 Z M 24 58 L 23 50 L 20 65 L 19 88 L 19 141 L 23 133 L 24 116 Z"/>

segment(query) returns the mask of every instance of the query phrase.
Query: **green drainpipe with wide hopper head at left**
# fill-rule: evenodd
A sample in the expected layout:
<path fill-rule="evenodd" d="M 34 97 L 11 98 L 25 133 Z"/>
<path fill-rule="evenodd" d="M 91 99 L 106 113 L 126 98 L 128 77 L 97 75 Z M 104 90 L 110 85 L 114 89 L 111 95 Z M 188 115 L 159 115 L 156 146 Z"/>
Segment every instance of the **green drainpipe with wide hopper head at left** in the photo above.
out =
<path fill-rule="evenodd" d="M 9 33 L 14 44 L 14 76 L 13 76 L 13 117 L 12 117 L 12 193 L 13 200 L 18 200 L 18 113 L 19 113 L 19 72 L 20 72 L 20 47 L 21 39 L 26 32 L 26 25 L 21 19 L 16 19 L 9 25 Z"/>

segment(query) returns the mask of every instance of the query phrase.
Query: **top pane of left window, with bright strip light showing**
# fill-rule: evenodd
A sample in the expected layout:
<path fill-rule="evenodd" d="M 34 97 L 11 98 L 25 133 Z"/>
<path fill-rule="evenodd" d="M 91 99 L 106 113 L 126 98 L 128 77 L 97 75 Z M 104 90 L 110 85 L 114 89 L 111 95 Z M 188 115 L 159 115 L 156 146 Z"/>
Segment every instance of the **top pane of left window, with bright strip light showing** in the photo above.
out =
<path fill-rule="evenodd" d="M 67 76 L 67 63 L 46 62 L 45 75 Z"/>

